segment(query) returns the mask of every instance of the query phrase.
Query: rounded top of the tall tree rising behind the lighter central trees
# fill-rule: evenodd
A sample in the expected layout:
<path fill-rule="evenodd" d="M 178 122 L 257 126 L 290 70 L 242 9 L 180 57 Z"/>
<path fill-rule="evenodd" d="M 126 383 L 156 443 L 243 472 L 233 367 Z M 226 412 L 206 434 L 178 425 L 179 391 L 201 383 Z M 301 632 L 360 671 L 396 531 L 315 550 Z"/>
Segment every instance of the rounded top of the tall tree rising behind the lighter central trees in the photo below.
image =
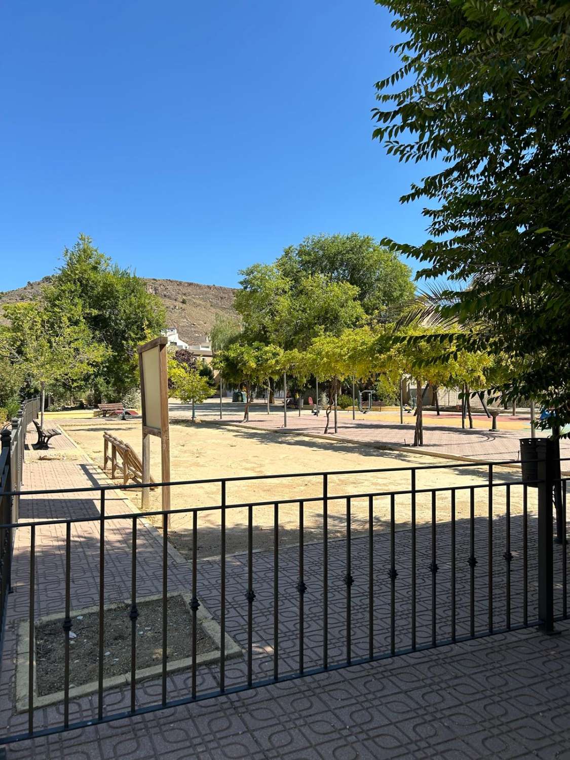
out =
<path fill-rule="evenodd" d="M 374 238 L 358 233 L 306 237 L 284 249 L 277 267 L 296 283 L 314 274 L 350 283 L 358 288 L 359 302 L 368 315 L 398 310 L 415 293 L 410 267 Z"/>

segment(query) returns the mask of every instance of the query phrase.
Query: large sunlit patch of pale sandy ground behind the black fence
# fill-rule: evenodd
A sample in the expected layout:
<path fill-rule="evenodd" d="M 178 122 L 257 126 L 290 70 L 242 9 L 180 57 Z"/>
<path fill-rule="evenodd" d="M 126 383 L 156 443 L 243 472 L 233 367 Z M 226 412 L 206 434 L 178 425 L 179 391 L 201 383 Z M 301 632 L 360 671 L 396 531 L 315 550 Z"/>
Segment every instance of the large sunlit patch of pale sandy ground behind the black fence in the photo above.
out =
<path fill-rule="evenodd" d="M 69 435 L 101 465 L 103 459 L 103 430 L 112 432 L 130 443 L 141 454 L 141 424 L 121 420 L 70 420 L 62 426 Z M 151 473 L 155 480 L 160 478 L 160 444 L 151 441 Z M 171 421 L 170 424 L 171 480 L 201 480 L 222 477 L 244 477 L 275 473 L 315 473 L 304 477 L 283 477 L 272 480 L 251 480 L 242 483 L 228 483 L 226 503 L 245 504 L 249 502 L 279 502 L 286 499 L 315 499 L 304 505 L 305 540 L 322 540 L 322 472 L 331 470 L 366 470 L 394 467 L 390 473 L 358 472 L 349 475 L 334 475 L 328 478 L 328 534 L 329 537 L 346 536 L 346 499 L 334 496 L 368 494 L 392 490 L 410 489 L 410 471 L 407 467 L 448 464 L 445 469 L 418 470 L 417 489 L 449 488 L 466 485 L 483 486 L 487 483 L 488 472 L 484 465 L 468 467 L 454 466 L 453 462 L 441 458 L 416 454 L 413 451 L 382 451 L 367 445 L 348 442 L 313 439 L 303 435 L 287 435 L 278 432 L 252 430 L 237 425 L 220 423 L 198 423 Z M 496 467 L 495 482 L 520 480 L 520 470 Z M 132 502 L 140 508 L 139 489 L 128 490 Z M 489 510 L 488 489 L 474 491 L 475 515 L 487 515 Z M 529 489 L 529 509 L 534 508 L 535 489 Z M 220 483 L 201 483 L 188 486 L 173 486 L 171 489 L 172 508 L 193 508 L 220 505 Z M 520 514 L 522 487 L 511 487 L 511 513 Z M 151 492 L 150 509 L 159 510 L 160 489 Z M 369 499 L 351 499 L 352 533 L 367 530 L 369 524 Z M 456 515 L 468 517 L 470 512 L 469 490 L 456 492 Z M 505 489 L 495 489 L 493 493 L 493 515 L 505 512 Z M 451 515 L 450 492 L 437 496 L 436 520 L 448 521 Z M 410 526 L 411 499 L 409 495 L 397 496 L 395 519 L 398 529 Z M 390 499 L 378 496 L 373 500 L 373 526 L 375 530 L 385 530 L 389 526 Z M 160 518 L 150 518 L 160 525 Z M 299 504 L 279 507 L 280 543 L 291 544 L 299 541 Z M 416 496 L 416 522 L 426 524 L 432 519 L 431 494 Z M 273 544 L 273 505 L 253 508 L 255 525 L 254 545 L 256 549 L 267 549 Z M 226 552 L 243 551 L 247 546 L 248 509 L 233 508 L 226 511 Z M 173 515 L 169 539 L 183 556 L 191 555 L 192 516 Z M 214 556 L 220 552 L 220 511 L 212 510 L 198 515 L 198 554 L 200 557 Z"/>

